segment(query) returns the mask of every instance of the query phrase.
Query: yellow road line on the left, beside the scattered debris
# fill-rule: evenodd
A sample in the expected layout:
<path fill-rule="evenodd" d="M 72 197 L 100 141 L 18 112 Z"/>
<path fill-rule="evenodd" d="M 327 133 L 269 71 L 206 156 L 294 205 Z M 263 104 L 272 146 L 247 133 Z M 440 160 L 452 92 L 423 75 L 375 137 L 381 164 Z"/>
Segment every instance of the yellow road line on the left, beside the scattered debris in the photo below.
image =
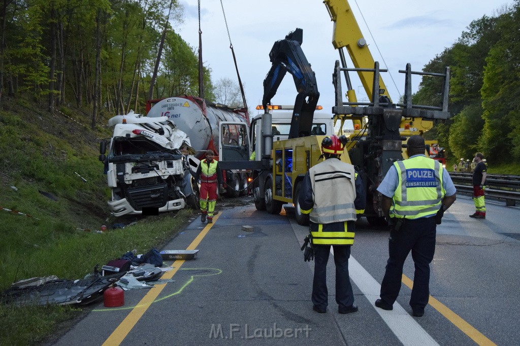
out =
<path fill-rule="evenodd" d="M 213 222 L 215 222 L 221 213 L 218 213 L 213 217 Z M 206 236 L 207 232 L 211 229 L 214 224 L 207 224 L 206 227 L 199 233 L 197 238 L 193 239 L 191 244 L 186 248 L 186 250 L 195 250 L 202 239 Z M 167 271 L 163 274 L 161 279 L 171 279 L 173 275 L 179 270 L 180 266 L 184 264 L 184 259 L 178 259 L 172 263 L 173 269 Z M 112 334 L 108 337 L 108 339 L 103 342 L 103 346 L 109 345 L 119 345 L 124 338 L 130 333 L 132 328 L 135 326 L 137 321 L 141 318 L 141 316 L 146 312 L 151 303 L 159 296 L 163 288 L 166 284 L 155 285 L 153 288 L 149 290 L 149 292 L 142 297 L 141 301 L 137 304 L 137 306 L 132 309 L 132 311 L 126 316 L 126 318 L 121 322 L 121 324 L 115 328 Z"/>

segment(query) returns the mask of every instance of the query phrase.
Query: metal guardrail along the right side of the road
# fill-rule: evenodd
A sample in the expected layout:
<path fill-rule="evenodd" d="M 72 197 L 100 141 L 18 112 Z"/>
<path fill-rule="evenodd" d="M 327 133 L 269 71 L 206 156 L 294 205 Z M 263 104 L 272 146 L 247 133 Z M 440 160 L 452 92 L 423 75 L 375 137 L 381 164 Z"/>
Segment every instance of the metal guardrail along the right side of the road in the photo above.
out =
<path fill-rule="evenodd" d="M 458 192 L 473 193 L 472 173 L 450 172 L 450 176 Z M 488 174 L 485 193 L 505 200 L 505 205 L 516 205 L 520 202 L 520 175 Z"/>

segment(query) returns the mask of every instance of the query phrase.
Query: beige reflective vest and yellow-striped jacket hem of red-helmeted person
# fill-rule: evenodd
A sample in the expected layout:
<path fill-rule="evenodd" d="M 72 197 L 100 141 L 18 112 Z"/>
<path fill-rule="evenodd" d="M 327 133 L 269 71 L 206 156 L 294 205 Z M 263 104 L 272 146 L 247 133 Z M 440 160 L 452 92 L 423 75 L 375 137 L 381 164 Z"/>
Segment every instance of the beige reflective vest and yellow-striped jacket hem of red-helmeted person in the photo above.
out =
<path fill-rule="evenodd" d="M 318 224 L 318 229 L 310 232 L 313 244 L 352 245 L 354 232 L 347 229 L 347 221 L 357 219 L 354 206 L 356 198 L 354 166 L 338 159 L 327 159 L 312 167 L 309 176 L 314 193 L 314 206 L 309 219 Z M 343 222 L 341 230 L 322 230 L 323 224 L 341 222 Z"/>

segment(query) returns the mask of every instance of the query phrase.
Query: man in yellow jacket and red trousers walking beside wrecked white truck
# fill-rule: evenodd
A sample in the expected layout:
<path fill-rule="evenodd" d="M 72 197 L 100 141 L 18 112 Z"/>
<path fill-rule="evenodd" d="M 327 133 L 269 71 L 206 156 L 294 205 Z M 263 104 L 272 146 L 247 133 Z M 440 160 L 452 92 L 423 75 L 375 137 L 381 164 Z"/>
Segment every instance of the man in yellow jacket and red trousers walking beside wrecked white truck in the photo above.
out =
<path fill-rule="evenodd" d="M 214 160 L 213 150 L 206 151 L 206 158 L 202 160 L 197 168 L 194 179 L 196 182 L 200 178 L 200 210 L 202 215 L 201 222 L 213 223 L 213 213 L 217 204 L 217 188 L 224 189 L 222 182 L 222 171 L 218 166 L 218 161 Z M 217 185 L 218 183 L 218 185 Z"/>

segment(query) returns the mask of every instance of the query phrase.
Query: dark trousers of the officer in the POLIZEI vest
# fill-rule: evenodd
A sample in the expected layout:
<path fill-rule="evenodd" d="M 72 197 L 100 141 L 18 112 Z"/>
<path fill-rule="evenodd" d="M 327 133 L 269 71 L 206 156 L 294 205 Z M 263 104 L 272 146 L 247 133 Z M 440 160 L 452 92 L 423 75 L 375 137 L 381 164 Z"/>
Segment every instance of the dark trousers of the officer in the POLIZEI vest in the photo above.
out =
<path fill-rule="evenodd" d="M 430 298 L 430 263 L 435 254 L 435 217 L 406 220 L 388 239 L 388 261 L 381 283 L 381 299 L 393 305 L 401 289 L 402 267 L 412 252 L 415 265 L 410 297 L 412 309 L 424 309 Z"/>

